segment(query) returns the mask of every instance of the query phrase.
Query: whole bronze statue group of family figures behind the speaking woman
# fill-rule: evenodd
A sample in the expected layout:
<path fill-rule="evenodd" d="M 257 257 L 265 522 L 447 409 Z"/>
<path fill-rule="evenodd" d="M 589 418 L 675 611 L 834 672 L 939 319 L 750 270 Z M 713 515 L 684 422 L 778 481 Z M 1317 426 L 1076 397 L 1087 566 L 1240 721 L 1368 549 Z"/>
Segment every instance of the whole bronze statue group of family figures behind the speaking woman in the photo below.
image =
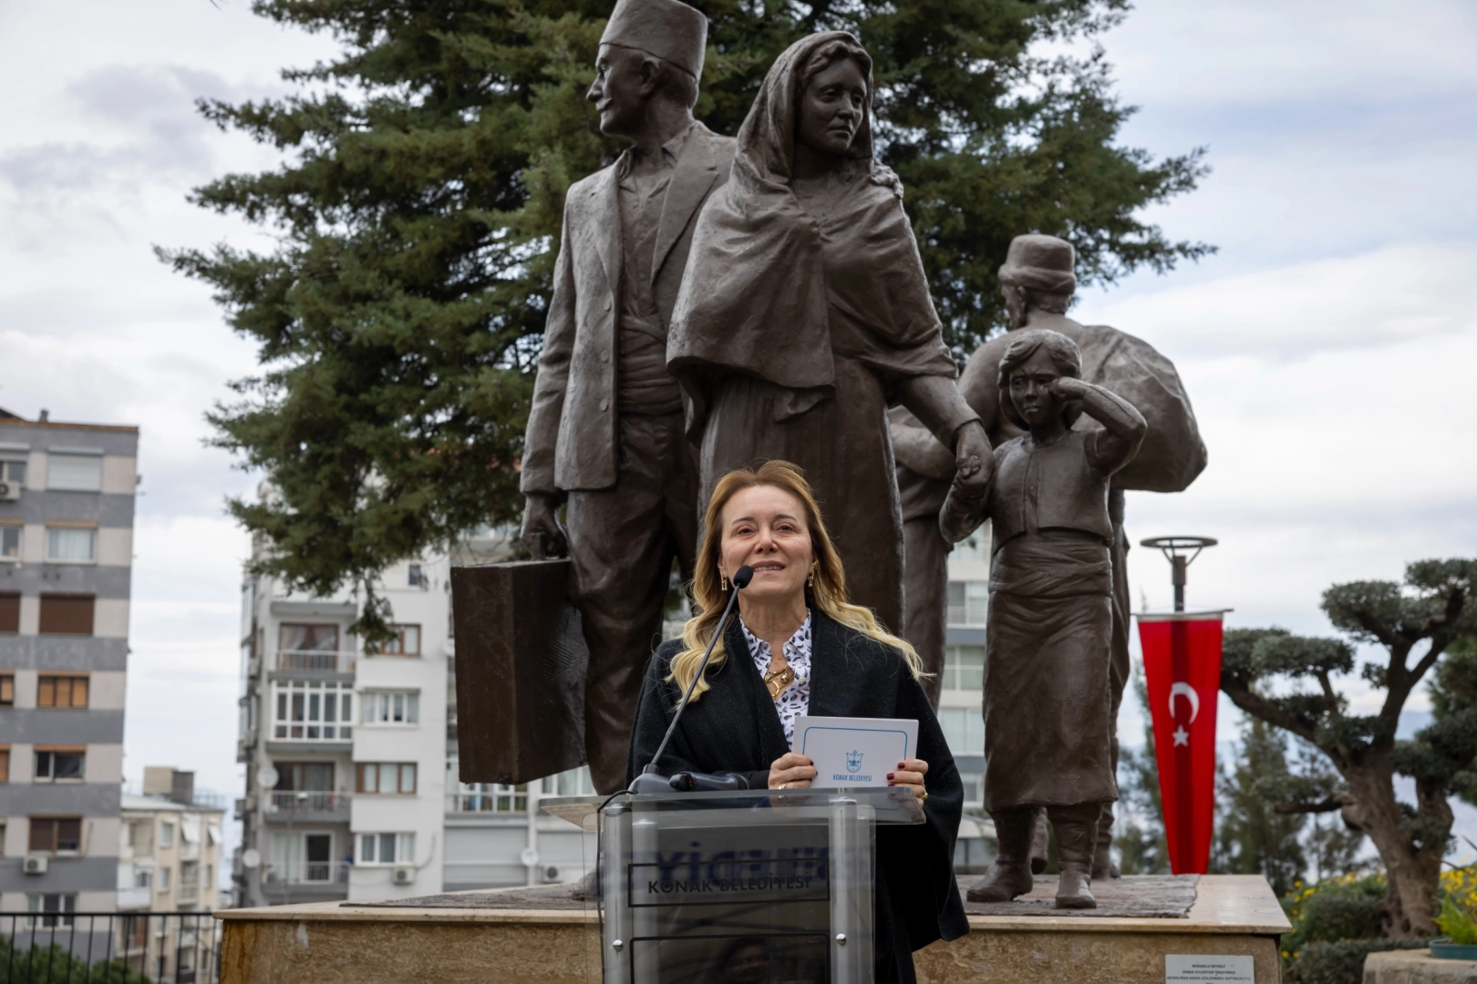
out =
<path fill-rule="evenodd" d="M 1041 235 L 1012 242 L 1010 330 L 960 375 L 904 189 L 873 156 L 867 52 L 845 32 L 798 41 L 733 139 L 691 115 L 706 31 L 678 0 L 614 7 L 589 99 L 632 146 L 569 189 L 529 416 L 523 540 L 572 559 L 595 788 L 625 785 L 703 505 L 730 469 L 783 459 L 815 490 L 851 600 L 913 643 L 935 702 L 948 550 L 991 524 L 1000 854 L 969 897 L 1029 891 L 1044 817 L 1058 903 L 1093 904 L 1090 881 L 1114 873 L 1128 679 L 1124 491 L 1179 491 L 1205 465 L 1179 376 L 1143 341 L 1066 317 L 1074 251 Z"/>

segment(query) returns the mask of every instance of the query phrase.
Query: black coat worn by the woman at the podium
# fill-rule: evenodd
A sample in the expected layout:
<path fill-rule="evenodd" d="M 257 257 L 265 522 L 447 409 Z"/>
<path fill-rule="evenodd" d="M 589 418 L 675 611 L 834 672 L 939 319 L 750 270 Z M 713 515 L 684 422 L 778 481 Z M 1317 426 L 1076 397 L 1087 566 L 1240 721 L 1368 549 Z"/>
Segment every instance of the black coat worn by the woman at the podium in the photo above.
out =
<path fill-rule="evenodd" d="M 811 618 L 808 714 L 916 718 L 919 723 L 919 758 L 929 766 L 926 823 L 879 826 L 876 839 L 877 960 L 892 962 L 895 980 L 911 983 L 916 980 L 913 950 L 969 932 L 954 881 L 954 838 L 964 788 L 933 708 L 898 651 L 820 611 L 812 609 Z M 724 633 L 724 645 L 728 656 L 716 668 L 709 667 L 709 690 L 682 713 L 657 770 L 666 776 L 682 770 L 738 772 L 749 775 L 750 786 L 764 788 L 770 764 L 790 746 L 774 702 L 749 658 L 737 617 Z M 628 780 L 651 761 L 682 699 L 676 683 L 666 680 L 672 658 L 681 651 L 681 640 L 668 640 L 647 667 L 631 733 Z"/>

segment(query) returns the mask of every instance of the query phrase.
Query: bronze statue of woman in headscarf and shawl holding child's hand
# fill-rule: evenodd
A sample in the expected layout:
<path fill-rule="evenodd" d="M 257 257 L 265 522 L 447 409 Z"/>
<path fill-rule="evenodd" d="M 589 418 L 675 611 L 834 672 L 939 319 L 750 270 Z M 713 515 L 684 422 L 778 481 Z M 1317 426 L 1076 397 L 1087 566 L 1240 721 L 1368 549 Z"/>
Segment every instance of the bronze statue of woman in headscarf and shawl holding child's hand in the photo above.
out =
<path fill-rule="evenodd" d="M 994 459 L 929 297 L 902 186 L 873 158 L 871 58 L 812 34 L 775 60 L 703 207 L 668 336 L 702 500 L 756 459 L 805 471 L 851 600 L 902 631 L 902 518 L 886 409 L 902 403 L 982 494 Z"/>

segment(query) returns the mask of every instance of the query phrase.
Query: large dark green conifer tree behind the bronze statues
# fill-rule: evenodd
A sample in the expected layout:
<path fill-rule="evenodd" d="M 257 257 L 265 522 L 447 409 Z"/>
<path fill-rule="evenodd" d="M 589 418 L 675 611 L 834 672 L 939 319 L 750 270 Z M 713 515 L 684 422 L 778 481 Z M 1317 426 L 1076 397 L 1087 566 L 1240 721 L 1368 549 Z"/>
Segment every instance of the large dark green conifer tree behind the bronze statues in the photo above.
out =
<path fill-rule="evenodd" d="M 610 162 L 583 100 L 610 0 L 254 0 L 329 34 L 338 58 L 287 69 L 297 93 L 204 102 L 282 153 L 201 189 L 269 230 L 257 252 L 161 251 L 210 283 L 261 370 L 210 415 L 216 443 L 275 493 L 233 515 L 272 547 L 258 571 L 329 595 L 517 516 L 517 462 L 569 184 Z M 774 58 L 817 30 L 876 59 L 879 153 L 908 187 L 948 339 L 1001 322 L 1012 236 L 1056 233 L 1084 283 L 1167 270 L 1208 246 L 1137 218 L 1195 187 L 1199 150 L 1115 143 L 1131 108 L 1094 38 L 1127 0 L 697 0 L 712 19 L 697 117 L 733 134 Z M 1080 56 L 1035 41 L 1087 44 Z M 1068 50 L 1059 47 L 1059 50 Z"/>

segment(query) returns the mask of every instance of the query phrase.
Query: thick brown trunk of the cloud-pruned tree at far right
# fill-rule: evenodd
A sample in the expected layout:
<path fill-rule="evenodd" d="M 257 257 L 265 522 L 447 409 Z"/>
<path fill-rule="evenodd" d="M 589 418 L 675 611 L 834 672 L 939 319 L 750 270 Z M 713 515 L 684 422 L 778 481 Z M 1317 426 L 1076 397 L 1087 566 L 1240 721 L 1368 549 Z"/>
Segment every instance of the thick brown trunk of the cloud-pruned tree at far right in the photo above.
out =
<path fill-rule="evenodd" d="M 1394 770 L 1388 752 L 1369 752 L 1359 764 L 1341 770 L 1359 803 L 1359 826 L 1380 851 L 1388 888 L 1390 934 L 1436 935 L 1436 894 L 1442 870 L 1440 850 L 1416 848 L 1402 829 L 1400 804 L 1394 798 Z"/>

